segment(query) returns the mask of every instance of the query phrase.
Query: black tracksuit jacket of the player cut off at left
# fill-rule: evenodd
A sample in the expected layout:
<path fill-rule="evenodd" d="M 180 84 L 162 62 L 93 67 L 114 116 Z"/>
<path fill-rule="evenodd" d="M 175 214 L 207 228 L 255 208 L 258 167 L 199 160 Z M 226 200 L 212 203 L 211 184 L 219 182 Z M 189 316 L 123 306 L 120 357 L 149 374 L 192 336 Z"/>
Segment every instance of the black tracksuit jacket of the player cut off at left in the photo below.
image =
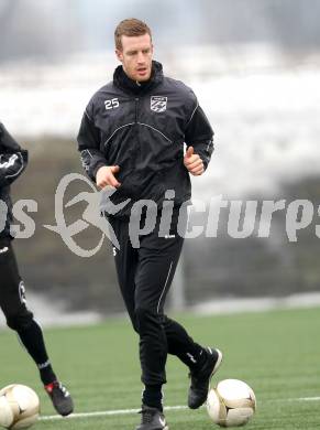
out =
<path fill-rule="evenodd" d="M 10 184 L 20 176 L 27 164 L 27 151 L 20 148 L 0 122 L 0 200 L 7 209 L 0 206 L 0 239 L 11 238 L 12 202 Z"/>

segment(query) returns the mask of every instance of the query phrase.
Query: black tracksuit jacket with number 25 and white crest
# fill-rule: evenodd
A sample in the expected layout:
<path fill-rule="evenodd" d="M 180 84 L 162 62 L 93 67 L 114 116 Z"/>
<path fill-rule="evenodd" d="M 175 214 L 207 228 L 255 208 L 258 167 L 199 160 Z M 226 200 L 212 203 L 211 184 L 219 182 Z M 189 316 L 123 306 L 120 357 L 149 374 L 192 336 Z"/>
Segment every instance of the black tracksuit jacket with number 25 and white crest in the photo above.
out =
<path fill-rule="evenodd" d="M 146 83 L 130 79 L 122 66 L 113 80 L 90 99 L 78 133 L 82 165 L 96 182 L 102 165 L 119 165 L 121 186 L 113 204 L 131 198 L 114 216 L 128 216 L 135 201 L 153 200 L 159 207 L 166 190 L 175 191 L 175 205 L 191 196 L 184 165 L 184 143 L 195 148 L 207 168 L 213 150 L 213 131 L 194 92 L 165 77 L 153 62 Z M 107 209 L 108 213 L 108 209 Z"/>

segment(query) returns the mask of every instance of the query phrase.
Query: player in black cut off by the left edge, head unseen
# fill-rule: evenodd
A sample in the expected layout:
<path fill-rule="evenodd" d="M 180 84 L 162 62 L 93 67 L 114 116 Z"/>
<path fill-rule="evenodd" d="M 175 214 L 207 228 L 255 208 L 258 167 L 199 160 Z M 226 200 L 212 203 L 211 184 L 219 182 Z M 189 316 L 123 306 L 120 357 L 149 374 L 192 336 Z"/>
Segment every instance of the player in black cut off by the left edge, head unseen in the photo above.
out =
<path fill-rule="evenodd" d="M 20 176 L 26 163 L 27 151 L 20 148 L 0 122 L 0 308 L 8 326 L 18 333 L 37 365 L 41 380 L 56 411 L 67 416 L 74 410 L 73 399 L 57 379 L 46 353 L 42 330 L 26 308 L 24 284 L 12 248 L 10 184 Z"/>

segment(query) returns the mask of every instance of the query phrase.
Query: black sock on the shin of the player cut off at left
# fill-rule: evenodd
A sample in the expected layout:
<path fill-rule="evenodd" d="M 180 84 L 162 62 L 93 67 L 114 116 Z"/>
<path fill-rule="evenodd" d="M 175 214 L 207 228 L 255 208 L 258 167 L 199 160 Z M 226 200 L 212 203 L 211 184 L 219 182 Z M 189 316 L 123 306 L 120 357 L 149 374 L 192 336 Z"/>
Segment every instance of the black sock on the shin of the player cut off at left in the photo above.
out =
<path fill-rule="evenodd" d="M 21 329 L 16 332 L 22 344 L 37 365 L 42 383 L 48 385 L 56 380 L 56 375 L 48 359 L 40 325 L 33 320 L 27 329 Z"/>

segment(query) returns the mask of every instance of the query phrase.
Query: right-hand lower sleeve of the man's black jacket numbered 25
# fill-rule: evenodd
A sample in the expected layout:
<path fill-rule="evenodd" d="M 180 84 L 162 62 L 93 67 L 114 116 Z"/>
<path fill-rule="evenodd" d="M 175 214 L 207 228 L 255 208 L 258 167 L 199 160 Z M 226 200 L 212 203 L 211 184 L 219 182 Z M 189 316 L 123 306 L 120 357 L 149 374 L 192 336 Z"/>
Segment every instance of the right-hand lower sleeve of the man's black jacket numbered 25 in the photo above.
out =
<path fill-rule="evenodd" d="M 213 130 L 206 114 L 198 101 L 196 101 L 196 107 L 187 123 L 185 142 L 187 143 L 187 147 L 195 148 L 195 153 L 199 154 L 203 161 L 205 170 L 210 162 L 214 149 L 213 135 Z"/>

